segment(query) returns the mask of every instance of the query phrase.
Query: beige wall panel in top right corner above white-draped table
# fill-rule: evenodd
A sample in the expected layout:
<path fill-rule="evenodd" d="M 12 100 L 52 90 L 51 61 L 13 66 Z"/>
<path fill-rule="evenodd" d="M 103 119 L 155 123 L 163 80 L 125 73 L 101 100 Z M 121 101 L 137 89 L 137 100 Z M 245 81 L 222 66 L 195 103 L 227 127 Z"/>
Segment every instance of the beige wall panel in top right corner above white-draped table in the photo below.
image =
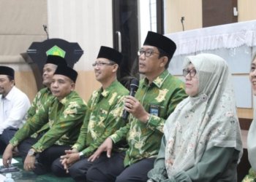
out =
<path fill-rule="evenodd" d="M 238 22 L 255 20 L 255 7 L 255 0 L 238 0 Z"/>

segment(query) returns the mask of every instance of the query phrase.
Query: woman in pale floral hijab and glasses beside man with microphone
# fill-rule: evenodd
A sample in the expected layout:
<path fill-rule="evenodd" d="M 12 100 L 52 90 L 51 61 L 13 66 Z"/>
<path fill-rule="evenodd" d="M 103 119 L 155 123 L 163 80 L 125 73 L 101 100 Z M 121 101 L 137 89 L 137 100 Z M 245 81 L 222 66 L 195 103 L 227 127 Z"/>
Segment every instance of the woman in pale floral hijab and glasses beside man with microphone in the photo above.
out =
<path fill-rule="evenodd" d="M 217 55 L 189 56 L 183 74 L 189 97 L 165 122 L 148 181 L 237 181 L 243 148 L 227 63 Z"/>

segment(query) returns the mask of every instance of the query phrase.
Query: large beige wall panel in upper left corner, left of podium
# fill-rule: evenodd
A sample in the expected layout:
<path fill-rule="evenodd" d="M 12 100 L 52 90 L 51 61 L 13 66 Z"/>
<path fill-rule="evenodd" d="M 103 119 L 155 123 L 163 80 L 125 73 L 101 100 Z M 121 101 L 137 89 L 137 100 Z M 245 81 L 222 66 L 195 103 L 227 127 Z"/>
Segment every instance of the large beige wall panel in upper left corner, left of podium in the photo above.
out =
<path fill-rule="evenodd" d="M 33 41 L 46 39 L 46 0 L 0 0 L 0 55 L 20 55 Z"/>

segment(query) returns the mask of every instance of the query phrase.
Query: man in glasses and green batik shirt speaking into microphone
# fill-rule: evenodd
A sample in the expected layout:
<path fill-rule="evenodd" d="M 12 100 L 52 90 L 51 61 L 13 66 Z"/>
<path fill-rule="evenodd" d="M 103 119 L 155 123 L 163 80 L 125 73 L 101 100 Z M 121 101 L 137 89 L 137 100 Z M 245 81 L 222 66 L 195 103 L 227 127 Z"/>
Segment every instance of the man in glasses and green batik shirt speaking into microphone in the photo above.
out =
<path fill-rule="evenodd" d="M 89 169 L 87 181 L 147 181 L 159 151 L 165 119 L 187 97 L 184 83 L 167 71 L 175 50 L 172 40 L 148 31 L 138 52 L 139 71 L 146 78 L 140 81 L 135 97 L 127 96 L 124 103 L 124 109 L 130 113 L 129 122 L 89 157 L 94 161 L 102 151 L 108 155 L 108 159 Z M 113 146 L 124 138 L 129 145 L 127 151 L 110 156 Z"/>

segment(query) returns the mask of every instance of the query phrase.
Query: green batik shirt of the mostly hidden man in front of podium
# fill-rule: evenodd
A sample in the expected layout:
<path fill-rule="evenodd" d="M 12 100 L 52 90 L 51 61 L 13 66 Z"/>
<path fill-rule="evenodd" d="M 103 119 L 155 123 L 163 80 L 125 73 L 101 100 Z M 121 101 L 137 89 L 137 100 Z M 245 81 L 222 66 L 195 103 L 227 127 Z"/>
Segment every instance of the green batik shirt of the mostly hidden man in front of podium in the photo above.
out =
<path fill-rule="evenodd" d="M 27 112 L 26 119 L 29 119 L 32 116 L 34 116 L 34 114 L 36 114 L 39 111 L 39 108 L 42 106 L 42 104 L 45 104 L 48 101 L 53 100 L 53 98 L 54 96 L 52 95 L 48 87 L 45 87 L 39 90 L 39 92 L 37 92 L 37 95 L 33 100 L 33 103 L 31 104 L 31 107 L 29 108 L 29 111 Z M 49 124 L 47 123 L 40 130 L 38 130 L 33 135 L 31 135 L 31 138 L 37 138 L 37 135 L 39 134 L 39 132 L 42 132 L 48 129 L 49 129 Z"/>

